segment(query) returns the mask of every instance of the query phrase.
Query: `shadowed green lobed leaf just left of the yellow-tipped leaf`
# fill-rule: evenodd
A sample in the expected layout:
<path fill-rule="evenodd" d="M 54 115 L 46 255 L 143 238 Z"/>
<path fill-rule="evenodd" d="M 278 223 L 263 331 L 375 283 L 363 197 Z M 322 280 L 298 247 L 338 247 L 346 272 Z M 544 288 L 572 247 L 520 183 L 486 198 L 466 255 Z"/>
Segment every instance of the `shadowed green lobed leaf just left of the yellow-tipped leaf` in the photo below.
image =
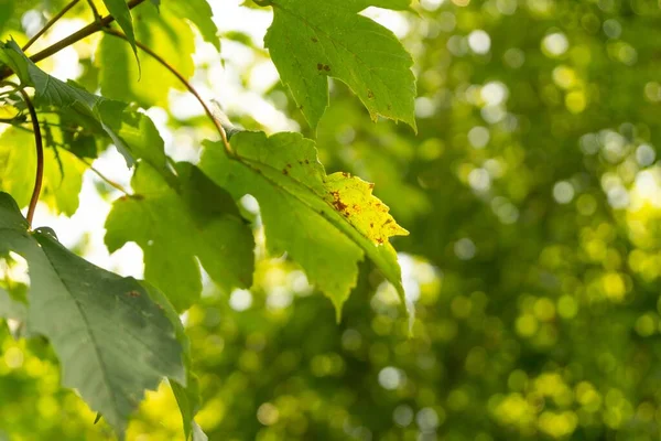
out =
<path fill-rule="evenodd" d="M 226 291 L 250 287 L 254 244 L 229 194 L 191 164 L 177 169 L 175 190 L 148 164 L 137 168 L 136 195 L 115 202 L 106 245 L 113 252 L 137 243 L 144 251 L 145 279 L 183 311 L 202 292 L 197 259 Z"/>

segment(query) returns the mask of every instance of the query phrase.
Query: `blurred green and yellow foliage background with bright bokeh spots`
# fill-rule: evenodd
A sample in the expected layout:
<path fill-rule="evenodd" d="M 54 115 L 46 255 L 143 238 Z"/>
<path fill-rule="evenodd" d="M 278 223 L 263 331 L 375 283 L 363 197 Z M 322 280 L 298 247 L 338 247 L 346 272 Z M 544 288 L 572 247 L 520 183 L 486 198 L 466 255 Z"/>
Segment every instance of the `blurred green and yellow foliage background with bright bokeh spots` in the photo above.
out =
<path fill-rule="evenodd" d="M 62 3 L 26 8 L 24 35 L 13 36 L 36 32 Z M 207 284 L 184 315 L 203 391 L 197 420 L 212 441 L 661 437 L 660 1 L 370 9 L 414 55 L 419 132 L 371 122 L 335 82 L 316 135 L 263 50 L 270 10 L 210 3 L 221 51 L 196 39 L 196 86 L 236 123 L 316 136 L 329 172 L 376 183 L 411 232 L 393 245 L 416 308 L 409 337 L 395 294 L 365 263 L 336 323 L 294 263 L 264 252 L 259 207 L 246 198 L 254 287 Z M 42 44 L 88 20 L 73 11 Z M 97 44 L 43 65 L 95 89 Z M 195 161 L 213 136 L 183 93 L 148 114 L 177 160 Z M 129 185 L 116 151 L 95 166 Z M 39 222 L 95 263 L 140 276 L 138 247 L 109 256 L 102 245 L 118 194 L 88 172 L 76 214 L 43 204 Z M 46 343 L 14 341 L 0 326 L 0 440 L 110 439 L 58 383 Z M 182 439 L 166 384 L 148 395 L 128 438 Z"/>

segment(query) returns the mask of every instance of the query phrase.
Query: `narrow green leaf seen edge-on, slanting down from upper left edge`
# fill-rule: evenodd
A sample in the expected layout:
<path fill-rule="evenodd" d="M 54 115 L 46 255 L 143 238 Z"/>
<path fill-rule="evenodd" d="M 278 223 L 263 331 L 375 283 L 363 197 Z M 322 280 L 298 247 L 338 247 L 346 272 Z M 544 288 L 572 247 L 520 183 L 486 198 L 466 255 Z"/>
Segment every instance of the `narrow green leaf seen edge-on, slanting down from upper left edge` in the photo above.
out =
<path fill-rule="evenodd" d="M 164 175 L 170 174 L 163 141 L 153 123 L 128 105 L 93 95 L 75 83 L 63 83 L 41 71 L 14 41 L 0 44 L 0 62 L 25 86 L 34 87 L 36 104 L 66 110 L 69 117 L 95 132 L 104 132 L 130 165 L 144 158 Z"/>

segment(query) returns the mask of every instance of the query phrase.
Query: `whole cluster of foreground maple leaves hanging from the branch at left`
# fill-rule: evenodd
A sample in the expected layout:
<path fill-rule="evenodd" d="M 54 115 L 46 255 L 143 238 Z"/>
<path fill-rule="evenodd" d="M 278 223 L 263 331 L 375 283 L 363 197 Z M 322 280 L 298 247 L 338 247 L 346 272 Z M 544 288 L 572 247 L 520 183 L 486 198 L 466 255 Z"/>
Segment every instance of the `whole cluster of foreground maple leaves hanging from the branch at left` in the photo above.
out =
<path fill-rule="evenodd" d="M 199 98 L 188 83 L 195 50 L 191 24 L 216 49 L 220 44 L 204 0 L 57 3 L 10 1 L 0 15 L 10 35 L 0 43 L 0 76 L 18 82 L 2 83 L 0 95 L 9 115 L 3 121 L 11 126 L 0 137 L 0 256 L 10 266 L 20 256 L 30 275 L 26 293 L 11 283 L 0 289 L 0 318 L 18 323 L 21 336 L 45 336 L 64 386 L 75 388 L 120 438 L 144 391 L 167 378 L 186 438 L 203 439 L 193 420 L 199 398 L 191 344 L 177 314 L 199 300 L 201 266 L 224 292 L 252 286 L 253 230 L 237 201 L 251 195 L 259 202 L 268 251 L 286 252 L 300 265 L 333 301 L 338 320 L 366 256 L 403 300 L 389 238 L 408 232 L 372 195 L 372 184 L 348 173 L 327 175 L 315 142 L 299 133 L 239 131 L 228 140 L 214 119 L 220 141 L 204 142 L 198 164 L 165 154 L 159 131 L 141 109 L 167 107 L 173 87 Z M 52 6 L 65 12 L 77 7 L 91 22 L 29 57 L 18 44 L 18 21 L 28 10 Z M 329 76 L 345 82 L 372 118 L 415 128 L 410 55 L 390 31 L 358 15 L 369 6 L 407 9 L 409 1 L 283 0 L 268 6 L 274 19 L 266 44 L 313 129 L 328 106 Z M 104 35 L 79 84 L 35 64 L 97 31 Z M 97 85 L 89 90 L 98 88 L 99 95 L 86 88 L 94 77 Z M 33 90 L 33 98 L 25 90 Z M 37 121 L 28 120 L 28 111 L 35 109 Z M 26 149 L 32 139 L 36 152 Z M 42 178 L 42 201 L 73 215 L 83 173 L 109 146 L 124 157 L 133 178 L 131 192 L 112 204 L 105 241 L 111 252 L 138 244 L 145 281 L 95 267 L 63 247 L 51 229 L 30 225 Z M 34 173 L 37 184 L 30 193 L 28 176 Z M 24 218 L 20 209 L 28 205 Z"/>

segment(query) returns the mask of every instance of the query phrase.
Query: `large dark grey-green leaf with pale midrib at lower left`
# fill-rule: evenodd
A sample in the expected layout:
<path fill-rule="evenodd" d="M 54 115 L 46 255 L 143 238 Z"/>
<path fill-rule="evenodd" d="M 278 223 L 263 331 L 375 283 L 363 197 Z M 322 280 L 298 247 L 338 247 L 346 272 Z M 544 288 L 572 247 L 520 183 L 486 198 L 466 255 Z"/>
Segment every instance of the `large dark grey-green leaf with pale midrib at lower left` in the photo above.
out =
<path fill-rule="evenodd" d="M 162 377 L 185 384 L 175 330 L 147 290 L 72 254 L 47 228 L 29 232 L 15 202 L 0 193 L 0 252 L 8 250 L 29 265 L 29 331 L 51 341 L 63 385 L 120 438 L 145 389 Z"/>

